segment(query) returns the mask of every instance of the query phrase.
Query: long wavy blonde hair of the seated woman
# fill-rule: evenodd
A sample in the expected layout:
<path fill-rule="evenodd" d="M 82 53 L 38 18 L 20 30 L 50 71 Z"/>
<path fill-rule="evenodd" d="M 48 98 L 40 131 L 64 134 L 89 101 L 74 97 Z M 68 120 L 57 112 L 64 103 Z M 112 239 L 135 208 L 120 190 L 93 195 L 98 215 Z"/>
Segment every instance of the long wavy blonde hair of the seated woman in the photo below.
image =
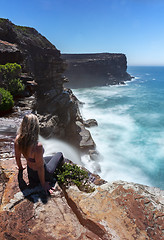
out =
<path fill-rule="evenodd" d="M 18 130 L 17 142 L 20 150 L 26 155 L 30 146 L 35 146 L 39 135 L 39 121 L 34 114 L 25 115 Z"/>

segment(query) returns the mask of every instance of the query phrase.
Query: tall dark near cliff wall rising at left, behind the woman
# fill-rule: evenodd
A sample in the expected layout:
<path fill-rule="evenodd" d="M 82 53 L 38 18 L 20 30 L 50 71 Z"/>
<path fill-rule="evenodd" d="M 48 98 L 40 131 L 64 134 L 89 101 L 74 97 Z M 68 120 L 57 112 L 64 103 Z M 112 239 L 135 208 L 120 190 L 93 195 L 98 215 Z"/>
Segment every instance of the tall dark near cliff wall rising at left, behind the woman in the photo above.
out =
<path fill-rule="evenodd" d="M 35 29 L 0 19 L 0 63 L 21 63 L 23 73 L 37 83 L 36 103 L 41 134 L 78 143 L 78 106 L 65 89 L 65 63 L 60 51 Z"/>

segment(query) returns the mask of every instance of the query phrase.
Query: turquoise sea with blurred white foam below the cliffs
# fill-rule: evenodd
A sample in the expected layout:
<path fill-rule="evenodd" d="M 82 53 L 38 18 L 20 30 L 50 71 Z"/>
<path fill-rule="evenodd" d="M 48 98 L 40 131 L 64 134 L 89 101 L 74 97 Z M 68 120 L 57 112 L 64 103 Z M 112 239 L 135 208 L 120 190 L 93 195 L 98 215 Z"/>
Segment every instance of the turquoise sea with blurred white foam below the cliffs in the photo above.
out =
<path fill-rule="evenodd" d="M 164 189 L 164 67 L 129 67 L 126 85 L 74 89 L 101 158 L 96 164 L 107 181 L 125 180 Z"/>

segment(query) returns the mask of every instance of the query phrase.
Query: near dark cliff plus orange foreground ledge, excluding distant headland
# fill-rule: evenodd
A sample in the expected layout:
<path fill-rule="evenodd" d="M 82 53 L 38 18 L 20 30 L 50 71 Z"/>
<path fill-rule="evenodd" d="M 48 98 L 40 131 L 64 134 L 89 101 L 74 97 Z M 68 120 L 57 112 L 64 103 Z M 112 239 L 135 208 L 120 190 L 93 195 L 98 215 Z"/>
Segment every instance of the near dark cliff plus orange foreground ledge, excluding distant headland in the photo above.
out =
<path fill-rule="evenodd" d="M 47 39 L 5 19 L 0 39 L 0 63 L 21 63 L 25 83 L 37 84 L 36 95 L 19 99 L 12 113 L 0 118 L 0 239 L 163 239 L 164 191 L 158 188 L 107 183 L 92 174 L 92 193 L 56 184 L 47 198 L 41 187 L 29 189 L 27 170 L 18 174 L 14 159 L 13 140 L 23 116 L 37 113 L 43 136 L 71 139 L 87 152 L 95 144 L 85 125 L 96 122 L 83 122 L 78 100 L 63 87 L 60 52 Z"/>

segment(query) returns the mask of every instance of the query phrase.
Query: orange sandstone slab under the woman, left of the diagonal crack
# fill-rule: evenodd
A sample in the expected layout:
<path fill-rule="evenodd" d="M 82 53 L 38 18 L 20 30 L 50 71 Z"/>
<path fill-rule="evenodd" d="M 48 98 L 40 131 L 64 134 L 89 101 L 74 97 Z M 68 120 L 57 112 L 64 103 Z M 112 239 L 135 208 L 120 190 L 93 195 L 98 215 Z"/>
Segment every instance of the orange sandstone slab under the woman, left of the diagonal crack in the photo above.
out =
<path fill-rule="evenodd" d="M 15 166 L 14 159 L 1 161 L 10 174 L 2 193 L 0 239 L 101 239 L 81 224 L 58 185 L 46 198 L 40 186 L 28 188 L 27 171 L 18 174 Z"/>

